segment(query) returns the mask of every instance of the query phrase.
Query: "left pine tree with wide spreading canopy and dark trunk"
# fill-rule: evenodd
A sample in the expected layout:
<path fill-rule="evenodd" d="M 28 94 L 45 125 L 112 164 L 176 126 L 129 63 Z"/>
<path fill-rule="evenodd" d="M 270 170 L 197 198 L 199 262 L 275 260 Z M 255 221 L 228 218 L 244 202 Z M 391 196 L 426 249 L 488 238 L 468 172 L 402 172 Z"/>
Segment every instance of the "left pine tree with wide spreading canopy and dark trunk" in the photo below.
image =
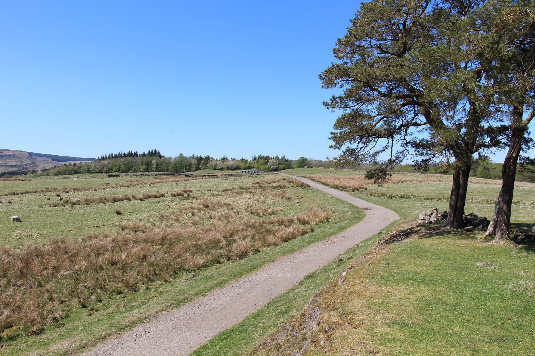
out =
<path fill-rule="evenodd" d="M 491 76 L 500 46 L 495 14 L 510 1 L 364 3 L 333 50 L 338 62 L 319 75 L 342 88 L 324 105 L 342 113 L 334 124 L 335 159 L 380 159 L 376 176 L 407 155 L 421 167 L 452 161 L 447 226 L 462 227 L 472 155 L 508 143 Z"/>

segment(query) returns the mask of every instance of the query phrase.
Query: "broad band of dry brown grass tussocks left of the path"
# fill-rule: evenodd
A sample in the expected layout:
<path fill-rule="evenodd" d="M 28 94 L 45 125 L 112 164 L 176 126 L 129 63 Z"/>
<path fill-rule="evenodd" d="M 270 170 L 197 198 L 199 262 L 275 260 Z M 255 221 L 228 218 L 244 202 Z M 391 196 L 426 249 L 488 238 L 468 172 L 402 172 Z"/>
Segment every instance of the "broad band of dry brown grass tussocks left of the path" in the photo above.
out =
<path fill-rule="evenodd" d="M 252 192 L 240 197 L 217 192 L 189 200 L 151 225 L 123 223 L 115 234 L 52 238 L 0 250 L 0 333 L 12 327 L 26 335 L 40 333 L 75 308 L 93 314 L 112 294 L 250 256 L 328 220 L 317 208 L 285 217 L 277 216 L 276 208 L 250 208 L 276 194 L 277 183 L 234 189 Z"/>

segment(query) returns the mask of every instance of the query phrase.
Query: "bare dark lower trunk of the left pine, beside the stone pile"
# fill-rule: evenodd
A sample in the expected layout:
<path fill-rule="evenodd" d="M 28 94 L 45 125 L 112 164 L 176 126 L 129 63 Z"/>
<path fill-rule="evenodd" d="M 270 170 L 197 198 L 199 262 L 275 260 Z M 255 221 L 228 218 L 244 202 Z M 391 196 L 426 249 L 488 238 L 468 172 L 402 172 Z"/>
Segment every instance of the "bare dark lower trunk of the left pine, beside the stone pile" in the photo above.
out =
<path fill-rule="evenodd" d="M 466 202 L 468 189 L 468 176 L 470 164 L 455 162 L 453 170 L 452 193 L 449 195 L 448 220 L 445 227 L 463 228 L 464 203 Z"/>

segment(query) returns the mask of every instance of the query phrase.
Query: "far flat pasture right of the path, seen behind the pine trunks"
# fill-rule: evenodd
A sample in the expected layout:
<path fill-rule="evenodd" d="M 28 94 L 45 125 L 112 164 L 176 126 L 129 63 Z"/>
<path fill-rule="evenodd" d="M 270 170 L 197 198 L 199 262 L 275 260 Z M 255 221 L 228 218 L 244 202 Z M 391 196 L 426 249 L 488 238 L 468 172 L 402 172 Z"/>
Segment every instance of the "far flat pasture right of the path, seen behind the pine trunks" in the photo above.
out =
<path fill-rule="evenodd" d="M 416 219 L 423 210 L 448 210 L 452 177 L 437 174 L 393 173 L 387 183 L 373 184 L 363 171 L 334 169 L 290 169 L 285 173 L 298 175 L 318 183 L 342 189 L 350 194 L 396 211 L 403 218 Z M 491 218 L 501 180 L 470 178 L 464 211 Z M 513 196 L 511 222 L 535 221 L 535 184 L 517 182 Z"/>

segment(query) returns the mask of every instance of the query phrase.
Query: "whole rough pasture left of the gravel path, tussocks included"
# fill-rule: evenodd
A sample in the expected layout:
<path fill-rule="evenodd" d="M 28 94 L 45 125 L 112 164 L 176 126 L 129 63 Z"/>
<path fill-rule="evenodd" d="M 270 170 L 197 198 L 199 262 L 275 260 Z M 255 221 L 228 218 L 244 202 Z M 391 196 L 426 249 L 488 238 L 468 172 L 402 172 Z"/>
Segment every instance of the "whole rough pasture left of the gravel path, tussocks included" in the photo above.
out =
<path fill-rule="evenodd" d="M 288 251 L 282 252 L 288 253 L 361 217 L 360 210 L 350 204 L 340 204 L 300 181 L 273 175 L 151 185 L 129 185 L 127 179 L 96 191 L 58 183 L 66 180 L 48 182 L 64 197 L 55 207 L 53 203 L 59 202 L 56 195 L 41 192 L 10 195 L 13 203 L 0 204 L 7 219 L 0 225 L 4 248 L 0 255 L 0 304 L 7 311 L 0 320 L 0 337 L 7 347 L 4 350 L 18 350 L 15 345 L 21 338 L 30 349 L 29 344 L 36 346 L 32 340 L 43 341 L 40 335 L 54 335 L 47 343 L 61 340 L 66 334 L 56 331 L 57 326 L 67 328 L 73 323 L 91 325 L 91 330 L 100 328 L 98 334 L 84 328 L 83 333 L 93 334 L 81 339 L 101 338 L 118 324 L 132 325 L 131 319 L 116 319 L 121 312 L 116 309 L 122 304 L 105 314 L 115 315 L 113 322 L 103 318 L 107 321 L 101 324 L 101 317 L 91 318 L 110 309 L 110 301 L 117 296 L 132 295 L 146 303 L 143 298 L 156 290 L 158 283 L 172 282 L 177 283 L 173 288 L 183 290 L 181 297 L 166 296 L 165 300 L 186 302 L 212 285 L 230 281 L 276 258 L 280 252 L 268 252 L 272 247 L 292 240 Z M 99 180 L 93 178 L 94 187 L 102 185 Z M 7 183 L 32 182 L 42 184 L 38 179 Z M 10 189 L 13 187 L 6 190 Z M 147 194 L 159 197 L 135 199 Z M 106 196 L 132 199 L 98 199 Z M 80 202 L 74 202 L 75 198 Z M 9 221 L 15 209 L 21 223 Z M 262 251 L 271 257 L 262 257 Z M 252 259 L 251 266 L 242 266 L 228 275 L 216 268 L 251 255 L 265 261 L 258 264 Z M 188 289 L 198 270 L 207 271 L 203 276 L 212 273 L 210 266 L 219 276 L 205 281 L 202 288 Z M 151 295 L 158 295 L 158 300 L 163 297 L 154 292 Z M 162 306 L 152 307 L 154 312 Z M 128 312 L 134 313 L 135 308 Z M 142 318 L 137 312 L 135 315 L 136 320 Z M 78 337 L 75 329 L 70 328 L 70 338 Z M 39 333 L 44 334 L 25 336 Z M 74 343 L 73 347 L 80 346 Z M 26 346 L 22 349 L 29 350 Z M 25 353 L 22 349 L 20 352 Z"/>

